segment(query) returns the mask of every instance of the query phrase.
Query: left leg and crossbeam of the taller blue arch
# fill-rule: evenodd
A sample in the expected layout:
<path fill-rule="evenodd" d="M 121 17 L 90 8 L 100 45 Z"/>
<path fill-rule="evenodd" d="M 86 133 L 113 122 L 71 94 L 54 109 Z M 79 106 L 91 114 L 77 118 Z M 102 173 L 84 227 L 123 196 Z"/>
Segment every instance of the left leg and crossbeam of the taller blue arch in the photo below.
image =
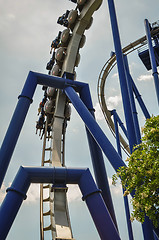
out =
<path fill-rule="evenodd" d="M 73 86 L 77 91 L 85 86 L 85 83 L 77 81 L 75 83 L 66 78 L 29 72 L 22 93 L 18 97 L 19 101 L 0 149 L 0 187 L 7 172 L 37 84 L 55 87 L 58 89 L 64 89 L 66 86 Z"/>

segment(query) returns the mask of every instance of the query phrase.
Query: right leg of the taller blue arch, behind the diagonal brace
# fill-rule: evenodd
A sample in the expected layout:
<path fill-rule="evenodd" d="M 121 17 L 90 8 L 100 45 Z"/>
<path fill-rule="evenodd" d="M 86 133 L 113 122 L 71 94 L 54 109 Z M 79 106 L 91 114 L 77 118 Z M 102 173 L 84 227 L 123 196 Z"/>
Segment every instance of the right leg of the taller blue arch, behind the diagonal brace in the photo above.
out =
<path fill-rule="evenodd" d="M 86 84 L 84 87 L 82 87 L 79 93 L 82 101 L 95 119 L 89 85 Z M 104 202 L 109 210 L 114 224 L 116 225 L 116 228 L 118 228 L 102 151 L 92 137 L 91 133 L 88 131 L 87 127 L 86 133 L 97 185 L 102 190 L 102 197 L 104 199 Z"/>

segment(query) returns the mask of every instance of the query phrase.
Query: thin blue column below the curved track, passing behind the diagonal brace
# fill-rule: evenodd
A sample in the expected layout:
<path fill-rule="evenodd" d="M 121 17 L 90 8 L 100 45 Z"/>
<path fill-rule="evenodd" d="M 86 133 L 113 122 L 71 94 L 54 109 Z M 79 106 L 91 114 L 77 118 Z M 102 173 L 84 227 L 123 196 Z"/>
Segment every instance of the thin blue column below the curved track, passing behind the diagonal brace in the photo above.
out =
<path fill-rule="evenodd" d="M 121 146 L 120 146 L 120 138 L 119 138 L 118 121 L 117 121 L 117 118 L 116 118 L 116 110 L 113 110 L 112 113 L 113 113 L 113 118 L 114 118 L 114 127 L 115 127 L 115 134 L 116 134 L 117 149 L 118 149 L 119 155 L 122 157 Z M 122 190 L 123 190 L 123 194 L 124 194 L 124 189 L 122 188 Z M 130 221 L 130 210 L 129 210 L 128 197 L 123 196 L 123 198 L 124 198 L 124 206 L 125 206 L 126 222 L 127 222 L 127 227 L 128 227 L 129 240 L 134 240 L 132 225 L 131 225 L 131 221 Z"/>

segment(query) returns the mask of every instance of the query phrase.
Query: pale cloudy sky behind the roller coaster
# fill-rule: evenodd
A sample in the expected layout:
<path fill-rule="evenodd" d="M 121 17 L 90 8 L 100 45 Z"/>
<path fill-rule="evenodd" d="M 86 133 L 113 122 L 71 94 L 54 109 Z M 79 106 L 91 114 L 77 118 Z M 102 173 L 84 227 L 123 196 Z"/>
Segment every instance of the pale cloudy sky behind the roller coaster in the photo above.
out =
<path fill-rule="evenodd" d="M 159 19 L 157 0 L 118 0 L 115 1 L 122 47 L 145 35 L 144 19 L 151 23 Z M 68 0 L 0 0 L 0 141 L 3 141 L 10 119 L 29 71 L 46 73 L 46 63 L 50 60 L 50 44 L 64 27 L 58 25 L 57 19 L 66 9 L 74 9 L 75 4 Z M 114 50 L 107 1 L 94 13 L 92 27 L 85 32 L 86 44 L 80 50 L 81 61 L 76 69 L 77 80 L 90 85 L 96 118 L 107 137 L 115 146 L 115 139 L 108 129 L 99 108 L 97 98 L 97 80 L 99 73 Z M 133 79 L 142 94 L 150 114 L 157 115 L 157 100 L 151 71 L 147 72 L 138 58 L 137 52 L 130 54 L 129 67 Z M 105 95 L 109 109 L 116 108 L 123 118 L 123 108 L 119 90 L 117 69 L 108 77 Z M 40 166 L 42 141 L 35 134 L 38 119 L 37 109 L 43 97 L 39 86 L 34 95 L 16 150 L 2 186 L 0 201 L 5 189 L 13 181 L 19 167 Z M 139 110 L 141 126 L 144 118 Z M 82 139 L 82 141 L 81 141 Z M 126 156 L 123 155 L 125 159 Z M 122 240 L 127 240 L 127 230 L 121 198 L 120 186 L 111 185 L 114 173 L 105 158 L 110 187 L 115 203 L 117 221 Z M 66 165 L 68 167 L 89 167 L 92 165 L 88 149 L 84 124 L 73 110 L 68 123 L 66 136 Z M 76 186 L 69 189 L 69 208 L 74 238 L 77 240 L 98 240 L 91 217 L 81 200 Z M 140 225 L 133 223 L 135 239 L 142 240 Z M 22 205 L 13 227 L 7 237 L 13 239 L 39 239 L 39 186 L 32 185 L 28 198 Z M 49 238 L 48 238 L 49 239 Z"/>

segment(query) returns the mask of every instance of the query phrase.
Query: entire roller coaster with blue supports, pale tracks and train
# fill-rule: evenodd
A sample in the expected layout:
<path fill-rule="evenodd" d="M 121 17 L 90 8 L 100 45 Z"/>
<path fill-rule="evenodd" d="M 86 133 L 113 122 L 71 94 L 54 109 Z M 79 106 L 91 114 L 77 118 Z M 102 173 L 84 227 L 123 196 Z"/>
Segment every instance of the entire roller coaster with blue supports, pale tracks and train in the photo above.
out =
<path fill-rule="evenodd" d="M 126 59 L 126 55 L 132 51 L 136 51 L 150 44 L 150 46 L 147 47 L 147 51 L 149 50 L 153 75 L 158 75 L 156 74 L 157 71 L 155 72 L 154 70 L 156 62 L 159 63 L 158 53 L 156 50 L 154 62 L 152 60 L 153 57 L 151 57 L 151 54 L 152 56 L 154 54 L 154 47 L 151 48 L 148 37 L 150 36 L 150 39 L 154 41 L 155 47 L 158 49 L 158 42 L 156 42 L 158 40 L 156 39 L 158 39 L 159 36 L 159 26 L 153 27 L 152 25 L 152 29 L 150 29 L 148 25 L 146 28 L 146 36 L 121 49 L 114 3 L 113 0 L 108 0 L 115 53 L 112 54 L 111 58 L 101 70 L 97 92 L 105 120 L 117 139 L 117 152 L 95 121 L 94 108 L 88 84 L 76 81 L 75 71 L 80 61 L 80 49 L 85 44 L 85 31 L 91 27 L 93 22 L 92 15 L 100 8 L 102 0 L 72 0 L 72 2 L 75 4 L 75 9 L 67 10 L 57 20 L 57 23 L 63 25 L 65 29 L 62 32 L 59 31 L 51 43 L 50 53 L 52 57 L 46 66 L 48 75 L 35 72 L 29 73 L 1 147 L 0 182 L 2 184 L 25 116 L 32 102 L 36 86 L 37 84 L 42 85 L 44 96 L 39 105 L 38 111 L 40 116 L 36 123 L 37 134 L 43 138 L 41 167 L 21 167 L 11 187 L 7 189 L 6 198 L 0 208 L 0 239 L 2 240 L 6 239 L 16 214 L 23 200 L 26 198 L 26 193 L 31 183 L 41 184 L 41 240 L 48 238 L 48 235 L 46 235 L 48 232 L 50 236 L 49 239 L 52 240 L 74 239 L 67 203 L 67 184 L 69 183 L 79 185 L 83 194 L 83 200 L 88 206 L 100 238 L 103 240 L 121 239 L 118 232 L 102 151 L 117 171 L 120 166 L 125 166 L 120 156 L 121 147 L 130 155 L 133 146 L 138 143 L 139 136 L 137 134 L 137 136 L 135 135 L 135 132 L 137 132 L 137 122 L 135 125 L 132 124 L 132 119 L 135 117 L 132 114 L 134 109 L 131 110 L 130 107 L 130 105 L 133 105 L 133 100 L 130 96 L 127 98 L 127 95 L 130 95 L 130 89 L 131 91 L 133 89 L 145 117 L 150 117 L 131 79 L 126 60 L 124 59 Z M 119 78 L 129 78 L 132 81 L 131 87 L 128 87 L 129 90 L 126 89 L 122 93 L 127 129 L 123 126 L 118 115 L 108 110 L 106 104 L 105 83 L 115 65 L 118 66 Z M 122 84 L 123 83 L 121 83 L 121 90 L 123 89 Z M 127 94 L 127 92 L 129 92 L 129 94 Z M 156 92 L 158 95 L 158 84 L 156 84 Z M 130 105 L 128 105 L 128 103 L 130 103 Z M 69 169 L 66 167 L 65 135 L 67 122 L 70 121 L 71 104 L 75 107 L 86 125 L 96 183 L 88 169 Z M 21 113 L 22 109 L 23 114 Z M 19 117 L 19 115 L 21 117 Z M 112 121 L 112 115 L 114 116 L 114 122 Z M 132 120 L 129 124 L 127 120 L 128 115 Z M 128 142 L 119 134 L 117 124 L 121 126 Z M 10 202 L 12 202 L 11 206 L 9 206 Z M 95 208 L 95 204 L 98 204 L 98 209 Z M 126 204 L 125 202 L 129 239 L 134 239 L 130 223 L 129 207 L 128 204 Z M 106 225 L 103 224 L 103 222 L 105 222 Z M 159 238 L 158 229 L 152 227 L 149 219 L 145 220 L 142 228 L 144 240 L 156 240 Z"/>

